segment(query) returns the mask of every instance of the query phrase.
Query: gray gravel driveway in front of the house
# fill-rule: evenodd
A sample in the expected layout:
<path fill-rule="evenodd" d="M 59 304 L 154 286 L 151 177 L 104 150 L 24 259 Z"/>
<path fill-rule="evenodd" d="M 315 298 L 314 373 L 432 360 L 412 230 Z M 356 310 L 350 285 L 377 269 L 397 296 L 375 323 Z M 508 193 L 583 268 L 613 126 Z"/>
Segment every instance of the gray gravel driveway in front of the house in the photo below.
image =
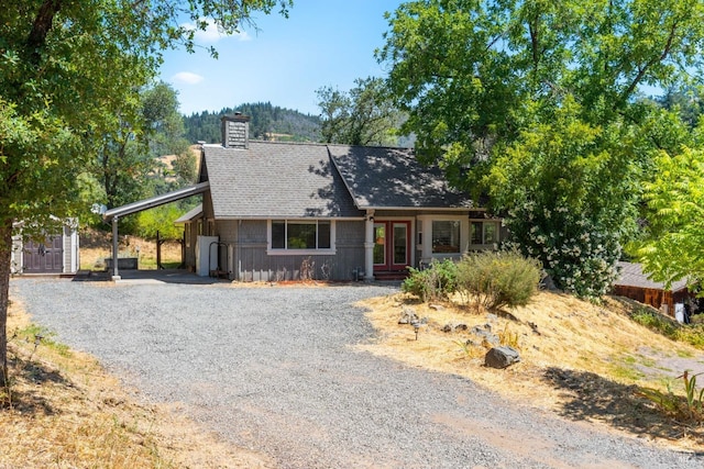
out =
<path fill-rule="evenodd" d="M 355 351 L 352 303 L 387 287 L 15 279 L 34 321 L 158 402 L 282 468 L 692 468 L 703 455 L 596 432 L 470 380 Z"/>

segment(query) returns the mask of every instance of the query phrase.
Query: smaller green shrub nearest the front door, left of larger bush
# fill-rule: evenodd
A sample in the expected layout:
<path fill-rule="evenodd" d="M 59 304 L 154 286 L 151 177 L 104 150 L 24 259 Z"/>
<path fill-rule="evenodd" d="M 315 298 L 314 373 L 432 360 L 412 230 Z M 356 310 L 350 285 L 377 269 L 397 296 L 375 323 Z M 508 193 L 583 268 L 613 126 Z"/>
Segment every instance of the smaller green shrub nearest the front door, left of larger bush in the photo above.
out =
<path fill-rule="evenodd" d="M 457 291 L 458 267 L 451 259 L 433 260 L 425 270 L 408 269 L 410 276 L 402 283 L 402 290 L 422 301 L 447 300 Z"/>

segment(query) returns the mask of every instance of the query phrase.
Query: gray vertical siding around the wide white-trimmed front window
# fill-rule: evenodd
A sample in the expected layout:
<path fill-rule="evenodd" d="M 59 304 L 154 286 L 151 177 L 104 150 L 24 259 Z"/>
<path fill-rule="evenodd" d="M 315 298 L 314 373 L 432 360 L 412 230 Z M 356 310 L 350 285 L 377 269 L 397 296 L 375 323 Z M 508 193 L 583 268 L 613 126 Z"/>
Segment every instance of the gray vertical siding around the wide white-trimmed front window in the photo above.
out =
<path fill-rule="evenodd" d="M 334 255 L 267 254 L 265 220 L 220 221 L 220 241 L 231 246 L 232 277 L 239 281 L 351 280 L 364 266 L 364 222 L 336 222 Z M 222 260 L 221 260 L 222 261 Z"/>

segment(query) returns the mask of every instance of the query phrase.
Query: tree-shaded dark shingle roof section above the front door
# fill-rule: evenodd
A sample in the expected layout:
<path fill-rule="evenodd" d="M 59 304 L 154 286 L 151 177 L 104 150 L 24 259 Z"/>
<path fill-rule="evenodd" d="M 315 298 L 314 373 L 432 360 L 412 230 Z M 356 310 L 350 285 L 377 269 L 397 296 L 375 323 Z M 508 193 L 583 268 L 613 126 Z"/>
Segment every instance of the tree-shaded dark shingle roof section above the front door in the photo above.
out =
<path fill-rule="evenodd" d="M 330 155 L 360 209 L 472 208 L 437 167 L 424 167 L 413 150 L 330 145 Z"/>

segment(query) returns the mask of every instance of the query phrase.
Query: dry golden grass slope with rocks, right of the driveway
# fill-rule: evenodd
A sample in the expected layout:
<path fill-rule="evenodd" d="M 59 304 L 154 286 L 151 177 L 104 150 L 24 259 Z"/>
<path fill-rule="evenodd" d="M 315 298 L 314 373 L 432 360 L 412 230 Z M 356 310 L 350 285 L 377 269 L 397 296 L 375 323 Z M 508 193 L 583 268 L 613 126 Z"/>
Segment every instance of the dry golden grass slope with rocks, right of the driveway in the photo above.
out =
<path fill-rule="evenodd" d="M 704 449 L 704 428 L 673 422 L 638 395 L 644 387 L 664 389 L 686 368 L 704 371 L 704 354 L 632 322 L 627 302 L 608 299 L 598 306 L 541 292 L 528 306 L 501 316 L 452 302 L 436 310 L 403 293 L 361 305 L 370 310 L 367 317 L 380 332 L 375 343 L 361 346 L 367 351 L 463 376 L 508 399 L 569 418 Z M 428 317 L 417 340 L 411 326 L 398 324 L 404 309 Z M 470 330 L 491 324 L 494 334 L 517 342 L 521 361 L 504 370 L 484 367 L 485 347 L 462 346 L 473 337 L 470 331 L 441 331 L 458 323 Z M 678 390 L 680 382 L 674 386 Z"/>

